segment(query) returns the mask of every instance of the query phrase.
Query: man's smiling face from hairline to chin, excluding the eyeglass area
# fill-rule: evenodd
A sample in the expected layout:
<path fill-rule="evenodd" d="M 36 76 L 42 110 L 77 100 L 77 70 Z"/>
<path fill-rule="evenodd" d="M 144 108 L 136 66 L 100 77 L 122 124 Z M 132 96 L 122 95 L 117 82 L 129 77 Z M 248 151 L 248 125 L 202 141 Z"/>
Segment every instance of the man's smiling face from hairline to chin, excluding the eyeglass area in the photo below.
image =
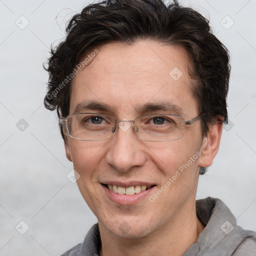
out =
<path fill-rule="evenodd" d="M 69 113 L 77 104 L 93 101 L 108 109 L 93 107 L 79 112 L 107 114 L 117 120 L 172 113 L 190 120 L 199 113 L 190 89 L 188 61 L 181 47 L 157 42 L 105 44 L 73 78 Z M 166 102 L 176 105 L 179 111 L 138 111 L 138 106 L 141 109 L 146 104 Z M 181 139 L 164 142 L 140 140 L 132 125 L 128 129 L 121 127 L 107 140 L 66 137 L 66 155 L 80 175 L 77 185 L 100 227 L 118 237 L 143 237 L 189 217 L 194 210 L 199 172 L 200 121 L 187 126 Z M 119 191 L 135 185 L 150 188 L 128 195 L 109 190 L 107 184 L 119 186 Z"/>

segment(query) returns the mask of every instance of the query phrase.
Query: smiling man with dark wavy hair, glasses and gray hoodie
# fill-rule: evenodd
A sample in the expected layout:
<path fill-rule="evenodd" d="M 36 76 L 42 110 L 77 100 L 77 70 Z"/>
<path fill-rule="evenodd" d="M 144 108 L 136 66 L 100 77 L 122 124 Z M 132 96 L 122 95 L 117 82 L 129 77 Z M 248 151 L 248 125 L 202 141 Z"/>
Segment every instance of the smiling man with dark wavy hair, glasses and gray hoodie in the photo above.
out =
<path fill-rule="evenodd" d="M 176 1 L 109 0 L 66 31 L 44 104 L 98 223 L 63 255 L 256 255 L 223 202 L 195 202 L 227 122 L 228 51 L 208 21 Z"/>

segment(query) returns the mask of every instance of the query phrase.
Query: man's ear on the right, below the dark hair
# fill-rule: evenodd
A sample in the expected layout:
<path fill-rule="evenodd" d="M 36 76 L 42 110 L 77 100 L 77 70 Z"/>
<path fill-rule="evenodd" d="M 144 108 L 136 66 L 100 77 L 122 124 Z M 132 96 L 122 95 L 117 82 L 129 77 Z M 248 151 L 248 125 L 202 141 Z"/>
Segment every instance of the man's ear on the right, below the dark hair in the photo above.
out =
<path fill-rule="evenodd" d="M 216 124 L 209 124 L 209 131 L 203 138 L 201 144 L 201 155 L 198 160 L 200 167 L 208 167 L 212 164 L 212 161 L 217 154 L 220 137 L 222 133 L 222 122 Z"/>

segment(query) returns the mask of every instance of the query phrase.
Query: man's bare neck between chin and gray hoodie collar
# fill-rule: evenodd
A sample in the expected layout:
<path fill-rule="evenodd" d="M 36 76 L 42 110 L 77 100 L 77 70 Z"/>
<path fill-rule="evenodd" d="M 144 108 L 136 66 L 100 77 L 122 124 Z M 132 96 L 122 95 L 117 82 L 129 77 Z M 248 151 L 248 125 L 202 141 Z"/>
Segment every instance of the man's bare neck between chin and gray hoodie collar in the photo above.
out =
<path fill-rule="evenodd" d="M 182 216 L 182 217 L 180 217 Z M 190 214 L 179 212 L 169 223 L 141 238 L 119 238 L 111 234 L 100 222 L 102 247 L 99 256 L 158 255 L 181 256 L 197 241 L 204 226 L 196 217 L 195 207 Z"/>

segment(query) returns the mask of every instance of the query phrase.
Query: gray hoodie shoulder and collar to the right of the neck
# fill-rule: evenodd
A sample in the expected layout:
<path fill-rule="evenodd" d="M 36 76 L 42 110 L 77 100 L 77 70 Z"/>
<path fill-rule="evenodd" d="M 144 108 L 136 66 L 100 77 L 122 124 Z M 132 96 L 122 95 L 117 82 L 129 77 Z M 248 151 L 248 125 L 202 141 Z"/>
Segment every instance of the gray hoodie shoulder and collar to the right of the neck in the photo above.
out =
<path fill-rule="evenodd" d="M 198 236 L 198 246 L 190 251 L 197 249 L 198 255 L 256 256 L 256 232 L 237 225 L 221 200 L 207 197 L 196 201 L 196 214 L 205 228 Z"/>

